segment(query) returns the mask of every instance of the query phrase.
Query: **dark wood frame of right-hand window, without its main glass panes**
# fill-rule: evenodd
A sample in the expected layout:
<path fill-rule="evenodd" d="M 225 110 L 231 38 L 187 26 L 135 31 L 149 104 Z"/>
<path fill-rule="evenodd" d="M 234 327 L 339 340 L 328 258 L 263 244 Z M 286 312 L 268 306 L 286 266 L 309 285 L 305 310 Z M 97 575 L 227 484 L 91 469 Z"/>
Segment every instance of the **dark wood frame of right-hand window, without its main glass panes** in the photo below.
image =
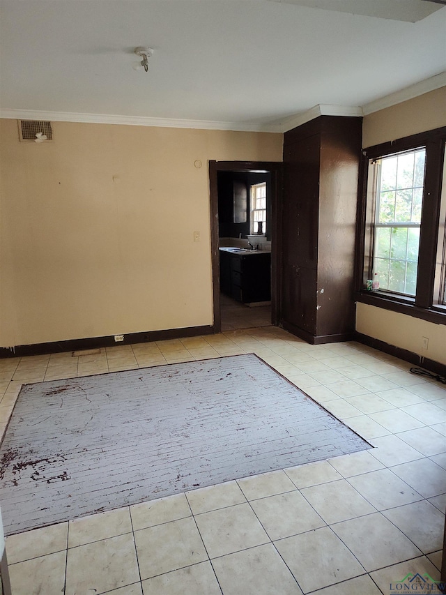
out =
<path fill-rule="evenodd" d="M 360 200 L 357 218 L 356 299 L 380 308 L 409 314 L 436 324 L 446 324 L 446 212 L 445 212 L 446 126 L 391 142 L 370 146 L 362 151 Z M 420 224 L 417 287 L 413 296 L 366 292 L 365 281 L 373 271 L 376 213 L 376 167 L 380 159 L 403 151 L 426 148 L 424 193 Z M 442 201 L 443 179 L 443 201 Z M 442 206 L 443 205 L 443 206 Z M 442 206 L 443 215 L 440 213 Z M 392 222 L 394 223 L 394 222 Z M 397 222 L 405 223 L 408 222 Z"/>

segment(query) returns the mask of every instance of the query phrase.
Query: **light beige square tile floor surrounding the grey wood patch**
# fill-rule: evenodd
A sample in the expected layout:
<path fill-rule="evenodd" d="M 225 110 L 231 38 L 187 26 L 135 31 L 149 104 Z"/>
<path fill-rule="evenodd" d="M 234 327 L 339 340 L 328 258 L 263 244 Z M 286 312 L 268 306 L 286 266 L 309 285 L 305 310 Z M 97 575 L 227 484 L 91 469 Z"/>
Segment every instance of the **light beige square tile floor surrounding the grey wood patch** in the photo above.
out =
<path fill-rule="evenodd" d="M 374 449 L 9 536 L 13 595 L 388 595 L 439 579 L 446 386 L 355 342 L 272 326 L 0 361 L 0 430 L 22 383 L 256 353 Z"/>

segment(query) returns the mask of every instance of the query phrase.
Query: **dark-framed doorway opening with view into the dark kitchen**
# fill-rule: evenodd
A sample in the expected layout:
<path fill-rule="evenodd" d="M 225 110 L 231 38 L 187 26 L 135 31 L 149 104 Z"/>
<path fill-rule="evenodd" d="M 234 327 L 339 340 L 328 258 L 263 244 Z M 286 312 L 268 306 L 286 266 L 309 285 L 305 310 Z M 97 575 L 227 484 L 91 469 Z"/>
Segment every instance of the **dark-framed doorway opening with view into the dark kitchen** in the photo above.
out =
<path fill-rule="evenodd" d="M 215 333 L 277 325 L 282 163 L 210 161 Z"/>

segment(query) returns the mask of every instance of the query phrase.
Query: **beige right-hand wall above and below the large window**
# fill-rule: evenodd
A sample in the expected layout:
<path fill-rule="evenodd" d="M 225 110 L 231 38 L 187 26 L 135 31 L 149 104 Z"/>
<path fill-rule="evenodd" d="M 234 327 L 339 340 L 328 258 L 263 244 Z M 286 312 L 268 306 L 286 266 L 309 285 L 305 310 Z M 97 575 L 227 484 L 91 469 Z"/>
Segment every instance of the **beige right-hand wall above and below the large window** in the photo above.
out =
<path fill-rule="evenodd" d="M 362 146 L 446 126 L 446 87 L 364 117 Z M 356 330 L 446 364 L 446 326 L 358 303 Z M 428 349 L 422 337 L 429 338 Z"/>

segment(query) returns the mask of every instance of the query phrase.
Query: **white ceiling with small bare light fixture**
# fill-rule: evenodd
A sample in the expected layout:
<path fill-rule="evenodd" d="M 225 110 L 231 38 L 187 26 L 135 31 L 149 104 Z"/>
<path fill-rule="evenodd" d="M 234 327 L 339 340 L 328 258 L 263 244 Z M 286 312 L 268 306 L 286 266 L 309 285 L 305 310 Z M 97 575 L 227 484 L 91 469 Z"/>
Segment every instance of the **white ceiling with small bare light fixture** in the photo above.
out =
<path fill-rule="evenodd" d="M 273 130 L 318 104 L 374 105 L 446 70 L 446 6 L 403 1 L 436 12 L 404 22 L 339 12 L 351 0 L 1 0 L 1 114 Z M 401 0 L 371 2 L 413 20 Z M 155 50 L 147 74 L 132 69 L 138 45 Z"/>

